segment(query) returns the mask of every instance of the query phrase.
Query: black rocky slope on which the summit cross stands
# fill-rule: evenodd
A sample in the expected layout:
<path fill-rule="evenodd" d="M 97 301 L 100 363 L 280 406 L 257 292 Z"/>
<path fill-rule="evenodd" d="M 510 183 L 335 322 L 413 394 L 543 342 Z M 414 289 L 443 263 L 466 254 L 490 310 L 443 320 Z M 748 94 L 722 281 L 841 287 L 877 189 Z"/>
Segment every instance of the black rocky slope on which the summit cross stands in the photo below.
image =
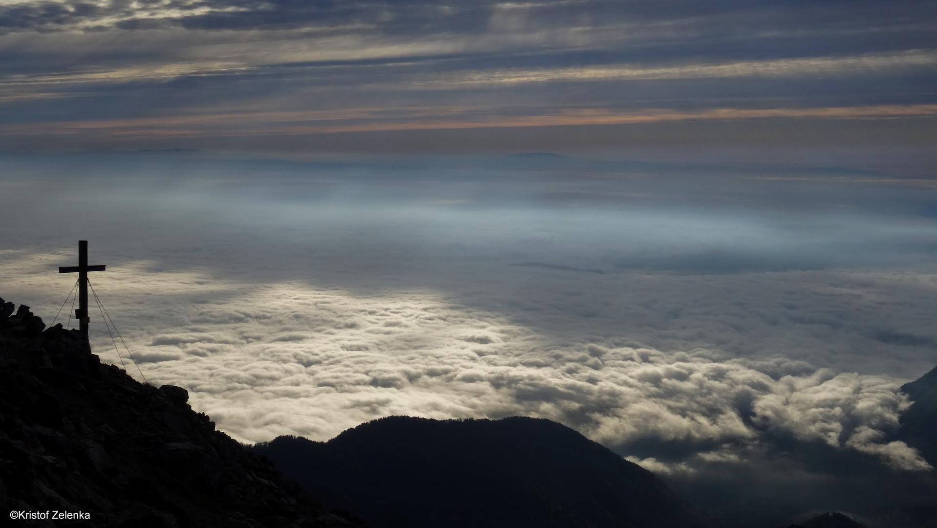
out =
<path fill-rule="evenodd" d="M 102 365 L 78 331 L 0 299 L 0 511 L 42 526 L 357 526 L 215 430 L 181 387 Z M 30 523 L 31 522 L 31 523 Z M 16 522 L 16 525 L 24 525 Z M 37 525 L 37 521 L 25 521 Z"/>

